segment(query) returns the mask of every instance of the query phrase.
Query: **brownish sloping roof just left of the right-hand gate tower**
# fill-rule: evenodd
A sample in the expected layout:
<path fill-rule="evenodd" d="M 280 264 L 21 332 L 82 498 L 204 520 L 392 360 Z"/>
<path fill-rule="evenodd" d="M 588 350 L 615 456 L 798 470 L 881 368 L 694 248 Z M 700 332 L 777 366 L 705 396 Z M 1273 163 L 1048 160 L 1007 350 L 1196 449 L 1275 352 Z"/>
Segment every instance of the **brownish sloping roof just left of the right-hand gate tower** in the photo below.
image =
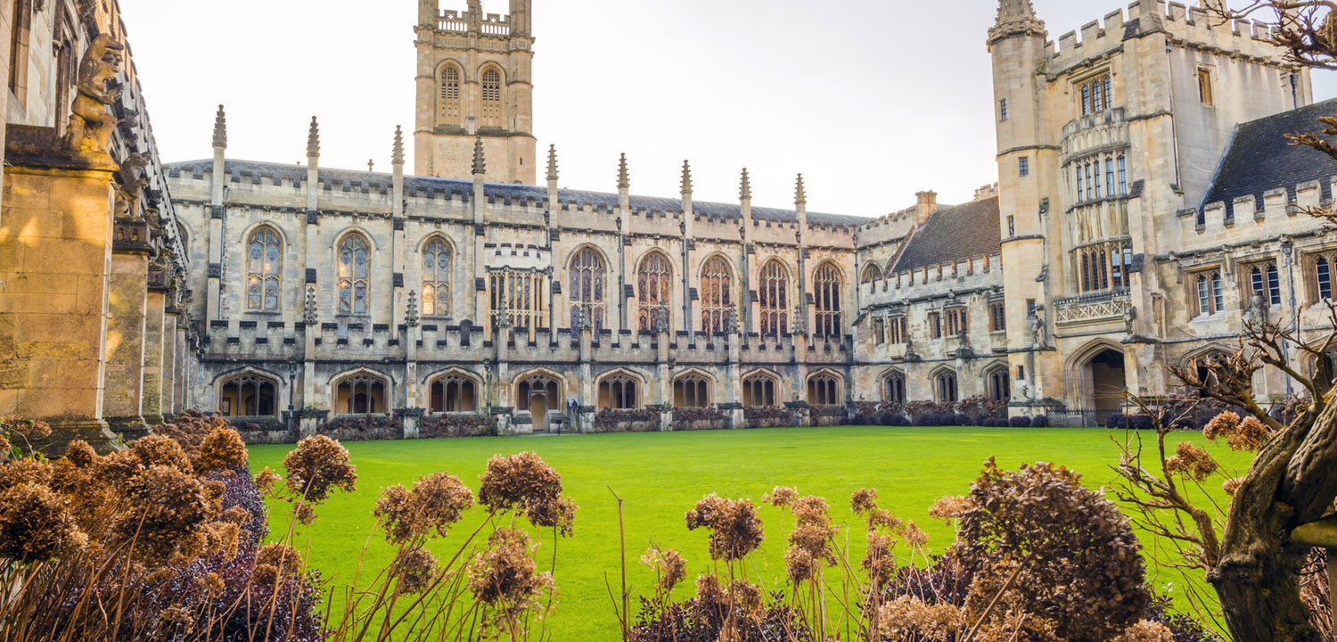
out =
<path fill-rule="evenodd" d="M 896 272 L 909 272 L 953 261 L 995 255 L 1003 247 L 999 229 L 999 197 L 937 210 L 910 237 L 896 262 Z"/>

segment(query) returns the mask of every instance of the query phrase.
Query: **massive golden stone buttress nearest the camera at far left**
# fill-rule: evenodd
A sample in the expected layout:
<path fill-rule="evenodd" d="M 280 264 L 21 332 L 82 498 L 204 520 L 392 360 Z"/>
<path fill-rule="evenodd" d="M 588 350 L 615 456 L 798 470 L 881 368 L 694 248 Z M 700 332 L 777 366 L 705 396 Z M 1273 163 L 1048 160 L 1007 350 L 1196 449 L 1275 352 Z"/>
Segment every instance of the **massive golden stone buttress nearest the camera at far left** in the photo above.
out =
<path fill-rule="evenodd" d="M 51 130 L 8 130 L 0 214 L 0 413 L 41 419 L 59 455 L 82 439 L 115 436 L 103 413 L 103 342 L 111 263 L 110 159 L 87 162 L 16 148 Z M 33 140 L 24 140 L 32 138 Z M 43 144 L 45 143 L 45 144 Z"/>

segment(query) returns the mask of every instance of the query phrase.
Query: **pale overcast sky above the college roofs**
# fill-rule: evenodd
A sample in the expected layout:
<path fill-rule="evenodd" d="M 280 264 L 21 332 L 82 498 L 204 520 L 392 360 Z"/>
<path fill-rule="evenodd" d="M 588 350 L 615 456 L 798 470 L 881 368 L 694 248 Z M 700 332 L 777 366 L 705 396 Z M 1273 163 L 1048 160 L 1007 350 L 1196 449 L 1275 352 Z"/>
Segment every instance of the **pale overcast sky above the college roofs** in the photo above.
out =
<path fill-rule="evenodd" d="M 444 9 L 465 0 L 443 0 Z M 1126 0 L 1034 0 L 1050 37 Z M 414 0 L 120 0 L 164 160 L 295 163 L 312 115 L 326 167 L 389 170 L 413 128 Z M 535 0 L 535 128 L 562 186 L 881 215 L 919 190 L 968 201 L 997 179 L 985 31 L 996 0 Z M 507 0 L 484 0 L 505 13 Z M 1337 95 L 1317 78 L 1317 99 Z M 409 156 L 409 171 L 412 155 Z M 543 171 L 539 178 L 541 181 Z"/>

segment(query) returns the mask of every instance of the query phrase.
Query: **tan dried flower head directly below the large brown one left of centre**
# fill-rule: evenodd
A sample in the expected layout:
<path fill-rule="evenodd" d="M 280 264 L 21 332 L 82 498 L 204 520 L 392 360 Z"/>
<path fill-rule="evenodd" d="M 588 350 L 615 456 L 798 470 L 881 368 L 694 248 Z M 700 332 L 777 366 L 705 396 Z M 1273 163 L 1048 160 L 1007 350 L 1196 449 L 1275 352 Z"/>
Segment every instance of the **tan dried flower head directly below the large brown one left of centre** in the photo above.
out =
<path fill-rule="evenodd" d="M 488 538 L 488 547 L 469 563 L 469 593 L 492 606 L 519 606 L 551 591 L 552 576 L 536 572 L 529 536 L 500 528 Z"/>

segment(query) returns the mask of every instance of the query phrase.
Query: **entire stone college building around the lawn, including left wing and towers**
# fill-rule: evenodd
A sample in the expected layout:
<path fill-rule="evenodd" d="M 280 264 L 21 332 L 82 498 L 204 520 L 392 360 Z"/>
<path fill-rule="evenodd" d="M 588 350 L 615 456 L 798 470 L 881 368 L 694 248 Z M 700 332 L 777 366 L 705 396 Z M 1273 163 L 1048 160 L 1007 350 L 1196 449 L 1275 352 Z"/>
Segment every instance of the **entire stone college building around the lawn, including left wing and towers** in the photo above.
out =
<path fill-rule="evenodd" d="M 1166 366 L 1246 320 L 1330 329 L 1337 237 L 1300 210 L 1332 202 L 1337 163 L 1282 135 L 1337 103 L 1261 27 L 1198 7 L 1139 0 L 1055 43 L 1003 0 L 997 183 L 868 219 L 809 211 L 801 175 L 783 207 L 754 205 L 746 170 L 737 202 L 695 201 L 686 162 L 675 195 L 634 195 L 626 158 L 604 190 L 559 189 L 531 0 L 418 1 L 417 115 L 388 174 L 321 167 L 316 119 L 305 165 L 231 159 L 222 107 L 211 158 L 160 165 L 132 64 L 96 106 L 108 148 L 70 151 L 116 9 L 7 4 L 0 412 L 76 432 L 186 408 L 254 440 L 826 425 L 973 396 L 1084 425 L 1124 391 L 1181 392 Z"/>

